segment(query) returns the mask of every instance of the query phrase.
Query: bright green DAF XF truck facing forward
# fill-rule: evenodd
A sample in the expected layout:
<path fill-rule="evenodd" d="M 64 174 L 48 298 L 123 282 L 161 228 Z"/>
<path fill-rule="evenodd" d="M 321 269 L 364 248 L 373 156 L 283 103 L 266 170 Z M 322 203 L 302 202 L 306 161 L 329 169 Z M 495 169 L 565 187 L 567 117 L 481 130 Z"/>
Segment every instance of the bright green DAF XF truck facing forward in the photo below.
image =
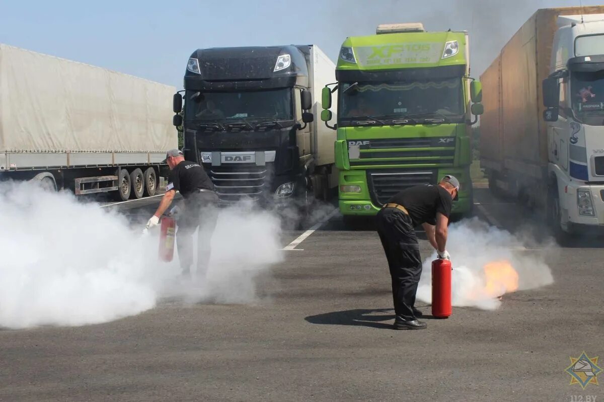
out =
<path fill-rule="evenodd" d="M 461 183 L 453 213 L 472 211 L 471 126 L 483 112 L 479 81 L 469 76 L 465 31 L 426 32 L 422 24 L 379 25 L 347 38 L 336 83 L 323 88 L 321 120 L 338 91 L 335 164 L 344 219 L 375 215 L 404 188 Z M 333 105 L 336 106 L 336 105 Z"/>

